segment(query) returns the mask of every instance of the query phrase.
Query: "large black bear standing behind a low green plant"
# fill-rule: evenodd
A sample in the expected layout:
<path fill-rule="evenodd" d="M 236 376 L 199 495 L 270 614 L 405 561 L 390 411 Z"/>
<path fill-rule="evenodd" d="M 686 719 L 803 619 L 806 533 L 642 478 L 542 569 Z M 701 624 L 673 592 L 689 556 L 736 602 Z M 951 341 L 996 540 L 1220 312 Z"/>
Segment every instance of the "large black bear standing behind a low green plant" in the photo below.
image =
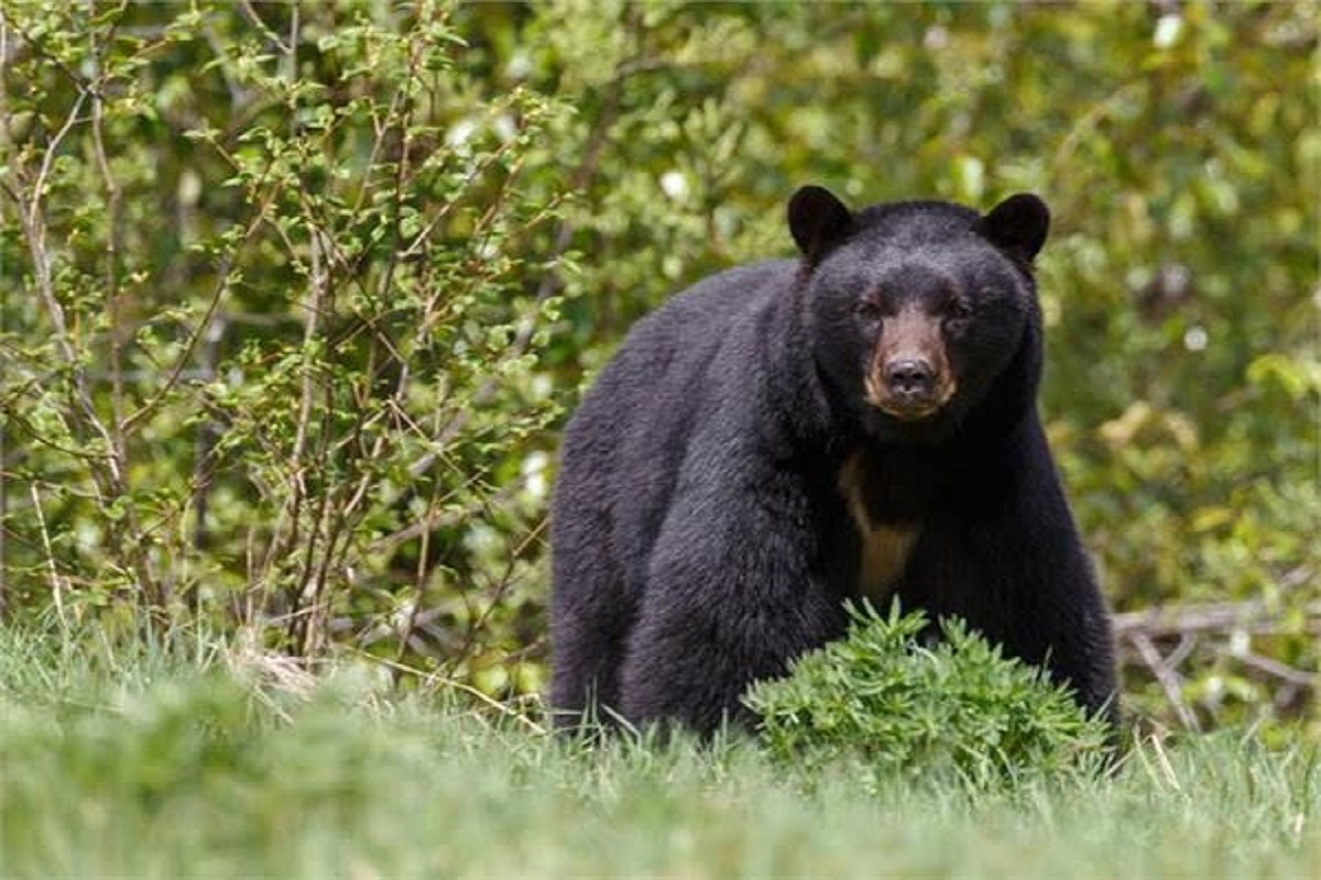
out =
<path fill-rule="evenodd" d="M 1114 719 L 1110 621 L 1036 412 L 1046 206 L 789 203 L 798 260 L 638 322 L 571 421 L 551 702 L 709 732 L 843 635 L 958 615 Z"/>

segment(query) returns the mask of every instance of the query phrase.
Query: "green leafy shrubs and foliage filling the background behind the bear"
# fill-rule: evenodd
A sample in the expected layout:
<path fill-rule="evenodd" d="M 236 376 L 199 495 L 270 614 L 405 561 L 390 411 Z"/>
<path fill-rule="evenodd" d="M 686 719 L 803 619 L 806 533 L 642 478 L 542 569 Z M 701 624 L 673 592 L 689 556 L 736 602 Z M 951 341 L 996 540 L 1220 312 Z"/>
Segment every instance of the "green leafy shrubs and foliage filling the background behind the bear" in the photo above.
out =
<path fill-rule="evenodd" d="M 1018 190 L 1128 708 L 1321 732 L 1316 3 L 0 0 L 0 602 L 544 681 L 557 430 L 783 202 Z"/>

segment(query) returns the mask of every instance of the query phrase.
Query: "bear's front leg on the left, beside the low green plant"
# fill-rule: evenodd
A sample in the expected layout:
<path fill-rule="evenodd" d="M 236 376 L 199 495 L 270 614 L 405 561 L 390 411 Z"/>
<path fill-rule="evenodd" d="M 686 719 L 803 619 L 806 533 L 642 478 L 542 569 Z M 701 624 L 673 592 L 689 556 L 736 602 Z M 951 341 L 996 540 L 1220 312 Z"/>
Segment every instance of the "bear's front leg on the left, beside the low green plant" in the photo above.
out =
<path fill-rule="evenodd" d="M 750 724 L 741 697 L 752 682 L 844 632 L 839 598 L 812 571 L 804 516 L 711 504 L 696 507 L 729 517 L 697 529 L 703 517 L 680 504 L 657 541 L 621 677 L 634 724 L 675 720 L 703 735 Z"/>

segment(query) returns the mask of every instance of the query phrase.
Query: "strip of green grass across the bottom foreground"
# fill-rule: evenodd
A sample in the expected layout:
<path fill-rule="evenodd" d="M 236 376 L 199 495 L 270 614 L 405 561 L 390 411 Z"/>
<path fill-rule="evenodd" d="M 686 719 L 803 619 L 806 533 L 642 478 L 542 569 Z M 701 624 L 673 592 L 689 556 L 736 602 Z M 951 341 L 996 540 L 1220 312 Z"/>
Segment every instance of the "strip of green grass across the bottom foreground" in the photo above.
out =
<path fill-rule="evenodd" d="M 0 636 L 4 877 L 1310 877 L 1321 757 L 1219 735 L 975 792 L 601 747 L 198 643 Z"/>

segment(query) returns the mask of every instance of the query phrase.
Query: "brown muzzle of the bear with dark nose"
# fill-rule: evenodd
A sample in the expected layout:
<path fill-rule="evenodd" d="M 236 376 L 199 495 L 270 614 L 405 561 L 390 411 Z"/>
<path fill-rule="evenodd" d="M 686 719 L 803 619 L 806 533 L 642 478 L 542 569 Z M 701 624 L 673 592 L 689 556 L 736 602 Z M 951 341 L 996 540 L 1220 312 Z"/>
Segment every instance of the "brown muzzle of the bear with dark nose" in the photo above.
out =
<path fill-rule="evenodd" d="M 863 385 L 867 402 L 905 422 L 935 414 L 958 391 L 945 348 L 943 322 L 909 302 L 881 322 Z"/>

